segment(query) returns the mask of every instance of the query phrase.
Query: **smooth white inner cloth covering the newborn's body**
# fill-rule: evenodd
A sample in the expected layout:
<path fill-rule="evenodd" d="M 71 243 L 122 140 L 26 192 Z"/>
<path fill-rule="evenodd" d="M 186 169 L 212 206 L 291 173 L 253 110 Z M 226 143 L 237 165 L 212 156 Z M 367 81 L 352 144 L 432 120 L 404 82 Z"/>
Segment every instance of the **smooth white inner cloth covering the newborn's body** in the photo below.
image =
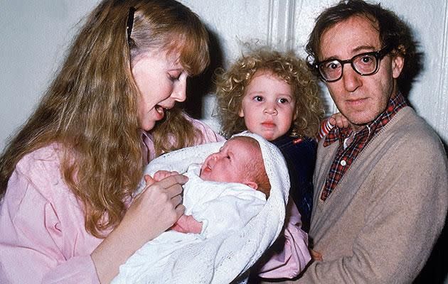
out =
<path fill-rule="evenodd" d="M 160 279 L 174 251 L 225 231 L 242 229 L 266 203 L 264 193 L 235 182 L 212 182 L 199 178 L 201 165 L 192 164 L 183 186 L 186 215 L 203 223 L 201 234 L 166 231 L 149 241 L 119 268 L 112 283 L 147 283 Z M 154 280 L 154 282 L 156 282 Z"/>

